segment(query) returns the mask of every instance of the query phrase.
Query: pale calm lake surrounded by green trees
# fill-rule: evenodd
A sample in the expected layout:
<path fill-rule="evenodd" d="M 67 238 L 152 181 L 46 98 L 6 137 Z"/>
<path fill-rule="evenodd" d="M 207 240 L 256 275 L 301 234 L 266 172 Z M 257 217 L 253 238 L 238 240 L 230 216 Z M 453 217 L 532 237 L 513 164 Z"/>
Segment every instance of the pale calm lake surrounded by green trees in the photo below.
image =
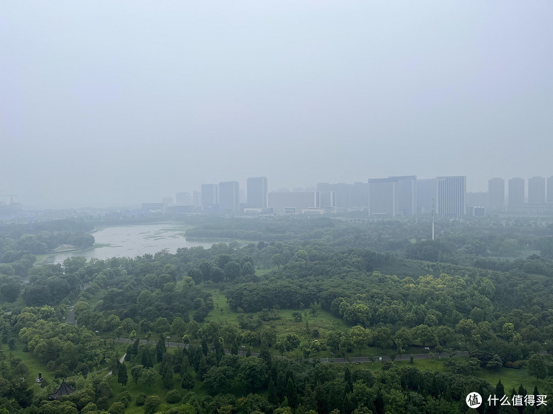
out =
<path fill-rule="evenodd" d="M 186 240 L 187 227 L 179 223 L 140 224 L 133 226 L 114 226 L 93 232 L 96 243 L 102 247 L 49 254 L 42 263 L 62 263 L 71 256 L 90 259 L 108 259 L 110 257 L 136 257 L 146 253 L 157 253 L 167 249 L 175 253 L 179 247 L 203 246 L 210 248 L 213 243 L 228 242 L 222 239 Z"/>

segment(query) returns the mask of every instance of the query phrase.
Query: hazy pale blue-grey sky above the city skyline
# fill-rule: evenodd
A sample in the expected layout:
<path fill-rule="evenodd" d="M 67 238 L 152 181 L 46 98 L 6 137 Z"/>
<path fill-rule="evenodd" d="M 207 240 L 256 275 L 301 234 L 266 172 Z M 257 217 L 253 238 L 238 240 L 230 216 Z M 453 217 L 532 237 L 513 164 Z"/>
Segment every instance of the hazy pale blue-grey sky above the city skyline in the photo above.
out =
<path fill-rule="evenodd" d="M 24 208 L 255 176 L 487 190 L 553 175 L 552 103 L 549 0 L 0 3 L 0 194 Z"/>

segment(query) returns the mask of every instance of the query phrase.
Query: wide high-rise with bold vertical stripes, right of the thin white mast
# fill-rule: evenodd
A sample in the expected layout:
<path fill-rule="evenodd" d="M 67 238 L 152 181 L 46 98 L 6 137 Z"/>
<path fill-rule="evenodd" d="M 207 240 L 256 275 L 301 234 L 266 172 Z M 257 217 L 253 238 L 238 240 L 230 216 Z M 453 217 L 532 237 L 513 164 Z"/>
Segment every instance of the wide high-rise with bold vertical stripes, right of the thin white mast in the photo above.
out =
<path fill-rule="evenodd" d="M 460 219 L 467 215 L 467 177 L 436 177 L 436 213 Z"/>

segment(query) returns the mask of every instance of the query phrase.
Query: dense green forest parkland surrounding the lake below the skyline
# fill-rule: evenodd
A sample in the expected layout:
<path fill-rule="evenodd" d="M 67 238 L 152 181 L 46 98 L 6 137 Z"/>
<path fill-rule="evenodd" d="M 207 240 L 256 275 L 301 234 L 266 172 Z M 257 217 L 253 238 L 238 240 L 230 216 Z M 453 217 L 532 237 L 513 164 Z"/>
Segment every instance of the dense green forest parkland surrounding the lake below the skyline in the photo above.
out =
<path fill-rule="evenodd" d="M 553 412 L 514 405 L 553 395 L 553 224 L 178 220 L 246 242 L 37 264 L 106 223 L 0 225 L 0 413 Z"/>

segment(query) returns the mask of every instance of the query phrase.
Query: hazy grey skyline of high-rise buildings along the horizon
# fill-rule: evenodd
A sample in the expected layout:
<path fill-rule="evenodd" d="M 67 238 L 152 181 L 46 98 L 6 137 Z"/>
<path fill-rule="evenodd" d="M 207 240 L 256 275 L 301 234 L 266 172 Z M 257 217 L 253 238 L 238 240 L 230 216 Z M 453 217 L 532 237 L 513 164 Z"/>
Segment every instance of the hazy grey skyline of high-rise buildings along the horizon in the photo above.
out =
<path fill-rule="evenodd" d="M 267 177 L 248 178 L 246 190 L 237 181 L 202 184 L 200 191 L 177 193 L 163 203 L 144 204 L 144 209 L 205 213 L 332 214 L 367 211 L 378 217 L 434 213 L 460 218 L 485 215 L 487 211 L 517 211 L 528 204 L 553 203 L 553 177 L 525 180 L 512 178 L 505 193 L 503 178 L 492 178 L 487 193 L 467 193 L 465 176 L 417 179 L 416 176 L 371 178 L 367 182 L 318 183 L 316 188 L 279 189 L 269 192 Z"/>

